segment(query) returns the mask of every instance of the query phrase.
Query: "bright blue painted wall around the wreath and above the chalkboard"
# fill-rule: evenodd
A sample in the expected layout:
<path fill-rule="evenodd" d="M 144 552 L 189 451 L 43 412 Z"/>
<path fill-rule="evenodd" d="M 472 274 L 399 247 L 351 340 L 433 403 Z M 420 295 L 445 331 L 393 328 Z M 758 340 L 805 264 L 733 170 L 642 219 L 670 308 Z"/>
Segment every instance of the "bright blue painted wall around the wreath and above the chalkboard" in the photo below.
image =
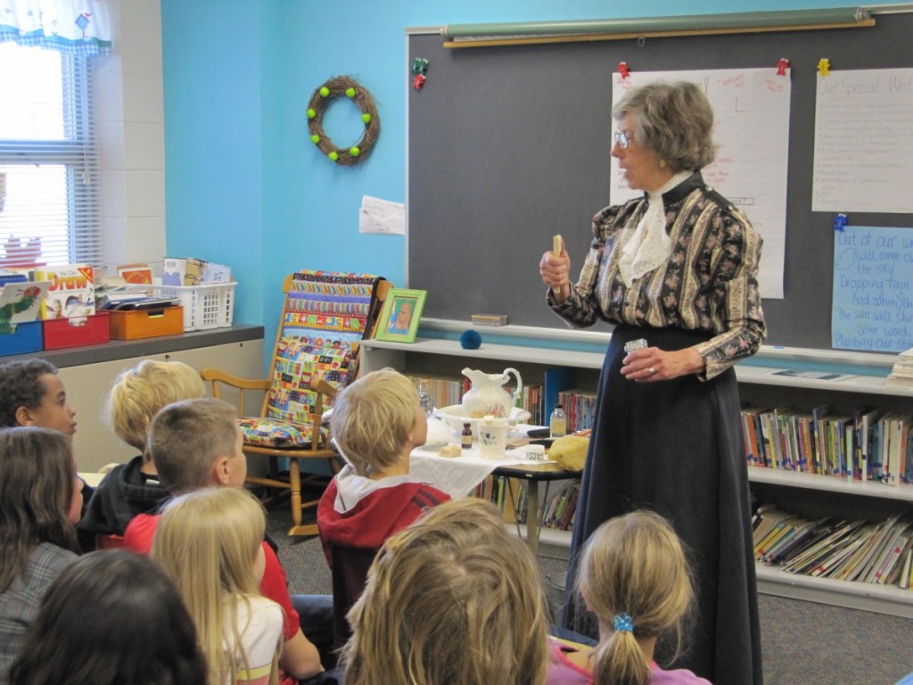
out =
<path fill-rule="evenodd" d="M 839 6 L 755 0 L 750 10 Z M 378 273 L 402 287 L 404 237 L 359 235 L 358 210 L 362 195 L 405 200 L 406 27 L 745 8 L 743 0 L 162 0 L 167 252 L 231 266 L 235 320 L 265 324 L 268 338 L 282 279 L 296 269 Z M 338 75 L 371 91 L 382 120 L 371 155 L 352 167 L 320 157 L 304 114 L 311 92 Z M 328 107 L 324 129 L 337 144 L 359 137 L 353 114 L 344 102 Z"/>

